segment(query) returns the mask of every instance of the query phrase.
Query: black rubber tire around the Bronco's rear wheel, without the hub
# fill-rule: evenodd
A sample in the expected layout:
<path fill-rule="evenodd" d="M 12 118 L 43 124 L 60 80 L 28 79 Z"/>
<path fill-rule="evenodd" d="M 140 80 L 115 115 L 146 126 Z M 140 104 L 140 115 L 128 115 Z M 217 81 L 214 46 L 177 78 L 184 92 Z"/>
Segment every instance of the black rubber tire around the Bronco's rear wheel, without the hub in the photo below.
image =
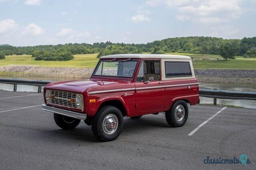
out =
<path fill-rule="evenodd" d="M 184 117 L 181 121 L 177 121 L 177 119 L 175 118 L 175 109 L 179 106 L 183 106 L 184 107 Z M 167 123 L 172 126 L 172 127 L 181 127 L 183 126 L 187 119 L 188 119 L 188 105 L 184 100 L 177 100 L 176 102 L 174 102 L 174 104 L 172 105 L 172 107 L 170 108 L 170 110 L 165 112 L 165 118 Z"/>

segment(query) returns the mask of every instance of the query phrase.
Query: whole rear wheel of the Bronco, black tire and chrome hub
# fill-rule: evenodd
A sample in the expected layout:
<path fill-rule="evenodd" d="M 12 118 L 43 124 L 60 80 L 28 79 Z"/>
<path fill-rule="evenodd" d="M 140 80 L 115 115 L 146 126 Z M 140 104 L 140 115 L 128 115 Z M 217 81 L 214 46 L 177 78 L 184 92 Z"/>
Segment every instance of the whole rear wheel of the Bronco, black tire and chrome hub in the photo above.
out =
<path fill-rule="evenodd" d="M 188 105 L 184 100 L 174 102 L 170 110 L 166 111 L 165 118 L 172 127 L 183 126 L 188 119 Z"/>

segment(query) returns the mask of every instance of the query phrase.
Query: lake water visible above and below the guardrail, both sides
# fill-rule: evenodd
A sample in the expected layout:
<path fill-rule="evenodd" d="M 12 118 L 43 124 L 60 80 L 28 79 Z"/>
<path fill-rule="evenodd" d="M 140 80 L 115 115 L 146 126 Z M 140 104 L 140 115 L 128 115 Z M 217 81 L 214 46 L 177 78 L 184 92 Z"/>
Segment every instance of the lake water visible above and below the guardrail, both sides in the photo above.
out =
<path fill-rule="evenodd" d="M 0 76 L 0 78 L 9 78 Z M 65 77 L 16 77 L 24 80 L 46 80 L 46 81 L 65 81 L 65 80 L 82 80 L 81 78 L 65 78 Z M 235 84 L 235 83 L 200 83 L 201 89 L 218 89 L 218 90 L 230 90 L 230 91 L 246 91 L 256 92 L 256 84 Z M 13 91 L 12 84 L 1 84 L 0 90 Z M 37 92 L 37 86 L 17 85 L 18 92 Z M 200 97 L 201 104 L 213 104 L 213 98 Z M 229 100 L 229 99 L 217 99 L 217 104 L 242 106 L 246 108 L 256 109 L 256 101 L 253 100 Z"/>

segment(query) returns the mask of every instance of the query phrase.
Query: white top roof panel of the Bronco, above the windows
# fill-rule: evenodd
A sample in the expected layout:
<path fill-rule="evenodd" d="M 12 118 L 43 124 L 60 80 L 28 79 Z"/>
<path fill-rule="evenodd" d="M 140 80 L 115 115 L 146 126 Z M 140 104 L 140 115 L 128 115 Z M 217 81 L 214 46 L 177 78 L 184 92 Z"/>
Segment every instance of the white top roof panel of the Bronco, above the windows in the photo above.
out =
<path fill-rule="evenodd" d="M 167 54 L 116 54 L 106 55 L 100 57 L 100 59 L 191 59 L 185 55 L 167 55 Z"/>

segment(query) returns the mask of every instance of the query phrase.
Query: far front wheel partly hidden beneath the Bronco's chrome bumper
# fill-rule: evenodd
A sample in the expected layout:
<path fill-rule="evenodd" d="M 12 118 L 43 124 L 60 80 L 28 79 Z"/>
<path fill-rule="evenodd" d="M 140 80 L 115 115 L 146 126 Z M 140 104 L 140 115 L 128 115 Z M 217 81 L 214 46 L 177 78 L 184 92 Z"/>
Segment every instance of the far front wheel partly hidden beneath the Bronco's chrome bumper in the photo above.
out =
<path fill-rule="evenodd" d="M 62 129 L 74 129 L 80 123 L 79 119 L 54 113 L 55 123 Z"/>

